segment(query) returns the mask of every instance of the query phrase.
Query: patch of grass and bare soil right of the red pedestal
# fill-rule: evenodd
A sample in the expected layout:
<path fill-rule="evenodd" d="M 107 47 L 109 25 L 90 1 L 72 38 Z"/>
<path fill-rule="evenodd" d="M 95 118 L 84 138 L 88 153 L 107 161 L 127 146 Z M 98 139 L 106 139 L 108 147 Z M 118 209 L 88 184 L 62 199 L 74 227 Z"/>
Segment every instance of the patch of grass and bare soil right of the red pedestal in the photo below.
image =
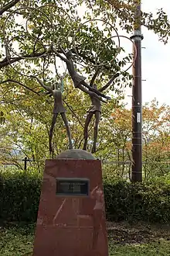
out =
<path fill-rule="evenodd" d="M 107 223 L 110 256 L 170 256 L 170 226 Z"/>

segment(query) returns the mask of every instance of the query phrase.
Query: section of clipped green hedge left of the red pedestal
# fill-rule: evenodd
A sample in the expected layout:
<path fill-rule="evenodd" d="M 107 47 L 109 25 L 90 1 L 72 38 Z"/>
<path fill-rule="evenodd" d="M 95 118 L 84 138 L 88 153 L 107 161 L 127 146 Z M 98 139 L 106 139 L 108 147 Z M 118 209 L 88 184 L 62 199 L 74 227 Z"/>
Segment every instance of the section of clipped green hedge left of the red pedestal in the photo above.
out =
<path fill-rule="evenodd" d="M 6 174 L 0 186 L 0 218 L 2 220 L 35 221 L 41 191 L 40 175 Z"/>

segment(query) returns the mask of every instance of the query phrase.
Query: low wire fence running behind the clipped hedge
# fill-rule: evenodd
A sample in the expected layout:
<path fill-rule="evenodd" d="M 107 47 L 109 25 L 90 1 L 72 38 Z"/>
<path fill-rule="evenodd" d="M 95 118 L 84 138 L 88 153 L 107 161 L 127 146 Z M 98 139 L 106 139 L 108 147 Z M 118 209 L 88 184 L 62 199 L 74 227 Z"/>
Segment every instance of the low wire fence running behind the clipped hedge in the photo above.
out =
<path fill-rule="evenodd" d="M 32 161 L 27 157 L 23 159 L 13 159 L 0 163 L 0 172 L 18 172 L 18 171 L 43 171 L 44 160 L 39 162 Z M 131 180 L 131 161 L 102 161 L 102 171 L 108 178 L 121 178 Z M 144 161 L 143 177 L 152 178 L 155 176 L 163 176 L 170 173 L 170 161 Z"/>

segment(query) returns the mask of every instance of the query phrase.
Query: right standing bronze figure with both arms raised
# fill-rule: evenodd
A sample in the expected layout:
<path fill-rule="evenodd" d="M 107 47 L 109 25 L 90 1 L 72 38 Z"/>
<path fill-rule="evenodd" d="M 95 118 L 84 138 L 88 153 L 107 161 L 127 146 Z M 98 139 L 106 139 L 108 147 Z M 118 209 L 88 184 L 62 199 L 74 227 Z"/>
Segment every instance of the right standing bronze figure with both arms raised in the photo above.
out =
<path fill-rule="evenodd" d="M 97 69 L 97 71 L 93 75 L 93 78 L 90 82 L 91 87 L 95 88 L 95 89 L 97 89 L 97 85 L 94 85 L 93 81 L 97 77 L 98 72 L 99 72 L 99 69 Z M 117 78 L 118 75 L 119 74 L 114 74 L 114 76 L 112 78 L 110 78 L 110 81 L 107 82 L 107 85 L 104 85 L 104 87 L 98 89 L 98 91 L 103 92 L 106 88 L 108 88 L 110 86 L 111 82 L 114 81 L 114 78 Z M 101 102 L 99 99 L 97 99 L 96 97 L 93 97 L 93 96 L 90 96 L 90 100 L 91 100 L 91 106 L 90 106 L 90 109 L 87 111 L 87 118 L 85 121 L 84 132 L 83 132 L 83 134 L 84 134 L 83 150 L 87 150 L 88 126 L 89 126 L 90 121 L 94 115 L 95 123 L 94 123 L 94 128 L 93 128 L 93 146 L 92 146 L 91 153 L 95 153 L 96 152 L 96 144 L 97 144 L 98 126 L 99 126 L 100 116 L 101 116 Z"/>

